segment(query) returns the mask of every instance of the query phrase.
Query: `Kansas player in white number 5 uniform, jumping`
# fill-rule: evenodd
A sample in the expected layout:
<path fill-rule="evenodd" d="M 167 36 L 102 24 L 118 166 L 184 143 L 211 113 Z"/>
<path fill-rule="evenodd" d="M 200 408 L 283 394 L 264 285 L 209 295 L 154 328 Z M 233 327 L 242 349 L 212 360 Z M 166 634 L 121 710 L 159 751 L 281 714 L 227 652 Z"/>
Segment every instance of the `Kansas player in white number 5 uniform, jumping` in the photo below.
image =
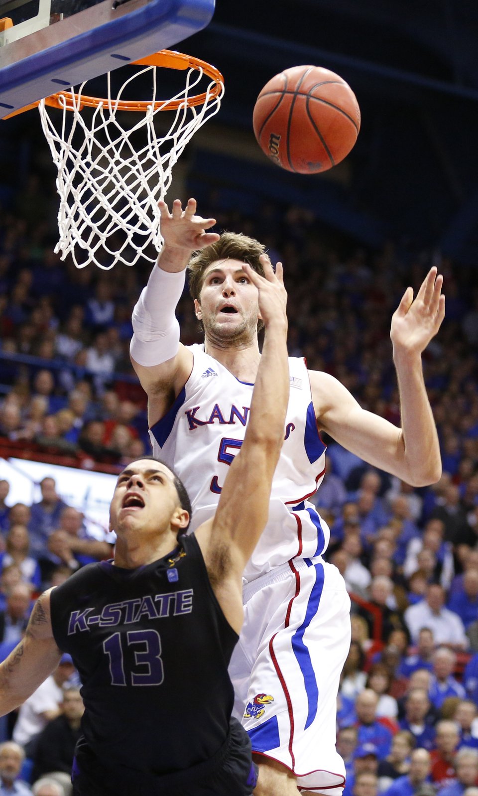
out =
<path fill-rule="evenodd" d="M 154 451 L 185 480 L 200 523 L 214 510 L 247 423 L 260 352 L 257 291 L 243 263 L 261 271 L 265 255 L 245 236 L 207 232 L 216 222 L 197 217 L 194 200 L 185 210 L 174 201 L 172 213 L 161 202 L 160 210 L 165 244 L 134 308 L 131 358 L 148 394 Z M 181 345 L 174 316 L 188 263 L 204 346 Z M 269 522 L 246 570 L 245 621 L 230 669 L 259 767 L 257 796 L 338 796 L 344 785 L 335 721 L 350 602 L 340 574 L 321 558 L 328 528 L 307 501 L 324 474 L 319 430 L 414 486 L 437 481 L 421 355 L 444 317 L 441 284 L 432 268 L 392 318 L 402 428 L 364 411 L 330 375 L 290 359 L 286 439 Z"/>

